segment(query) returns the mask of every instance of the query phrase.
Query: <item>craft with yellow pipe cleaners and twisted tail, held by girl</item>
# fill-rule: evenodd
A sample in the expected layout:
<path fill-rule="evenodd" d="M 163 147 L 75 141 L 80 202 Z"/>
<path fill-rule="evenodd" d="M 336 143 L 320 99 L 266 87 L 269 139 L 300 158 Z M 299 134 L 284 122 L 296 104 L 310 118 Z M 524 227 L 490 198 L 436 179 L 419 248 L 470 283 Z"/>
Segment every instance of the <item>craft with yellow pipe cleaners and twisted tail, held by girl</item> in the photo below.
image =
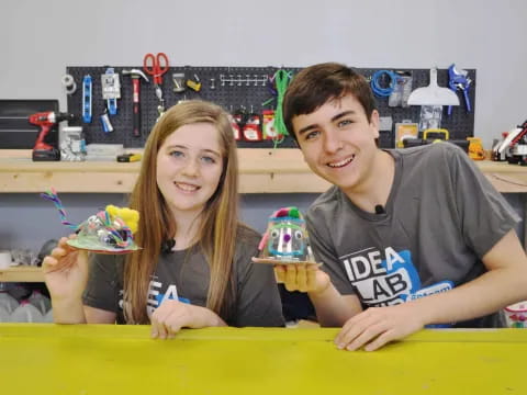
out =
<path fill-rule="evenodd" d="M 53 188 L 41 193 L 41 196 L 55 204 L 63 225 L 77 234 L 76 238 L 68 240 L 71 247 L 98 253 L 127 253 L 139 249 L 134 242 L 134 233 L 139 221 L 137 211 L 108 205 L 80 225 L 75 225 L 67 221 L 63 203 Z"/>

